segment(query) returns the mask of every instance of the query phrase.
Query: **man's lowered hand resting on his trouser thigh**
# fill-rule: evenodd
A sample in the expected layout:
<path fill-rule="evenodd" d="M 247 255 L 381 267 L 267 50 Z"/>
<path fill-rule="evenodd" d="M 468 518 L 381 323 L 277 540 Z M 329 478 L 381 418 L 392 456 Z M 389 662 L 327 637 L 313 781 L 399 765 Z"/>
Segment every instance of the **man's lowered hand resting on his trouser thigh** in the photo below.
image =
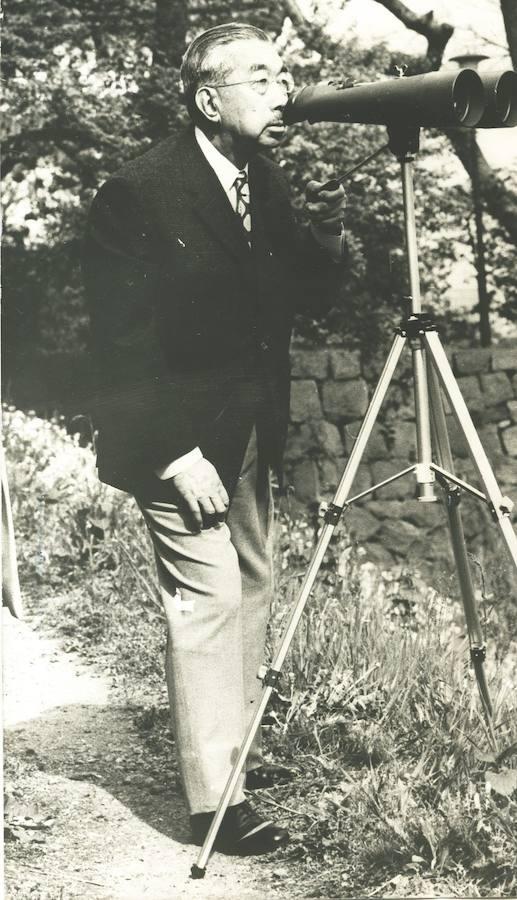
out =
<path fill-rule="evenodd" d="M 199 459 L 171 479 L 183 503 L 192 513 L 199 531 L 216 521 L 222 525 L 229 497 L 217 470 L 207 459 Z"/>

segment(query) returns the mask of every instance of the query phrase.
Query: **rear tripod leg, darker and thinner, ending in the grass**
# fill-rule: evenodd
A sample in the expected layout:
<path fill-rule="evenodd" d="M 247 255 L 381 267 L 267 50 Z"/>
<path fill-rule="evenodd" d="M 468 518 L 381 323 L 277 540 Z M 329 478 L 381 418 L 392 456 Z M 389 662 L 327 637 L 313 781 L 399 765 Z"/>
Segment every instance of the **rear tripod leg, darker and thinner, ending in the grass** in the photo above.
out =
<path fill-rule="evenodd" d="M 443 411 L 442 397 L 440 394 L 440 385 L 438 376 L 429 362 L 428 365 L 428 383 L 431 399 L 431 414 L 433 425 L 433 437 L 435 439 L 436 455 L 440 465 L 454 474 L 452 453 L 449 444 L 449 436 L 445 423 L 445 414 Z M 465 612 L 465 621 L 470 641 L 470 658 L 476 675 L 476 681 L 481 697 L 481 702 L 485 710 L 487 722 L 491 730 L 492 703 L 488 691 L 486 681 L 484 659 L 485 659 L 485 642 L 483 639 L 483 631 L 479 620 L 478 609 L 474 594 L 474 585 L 472 583 L 472 574 L 465 544 L 465 535 L 463 532 L 463 522 L 461 513 L 458 508 L 459 494 L 455 489 L 447 495 L 447 517 L 449 520 L 449 530 L 451 534 L 451 544 L 454 553 L 454 561 L 456 563 L 456 571 L 458 574 L 458 582 L 460 585 L 461 598 L 463 601 L 463 609 Z"/>

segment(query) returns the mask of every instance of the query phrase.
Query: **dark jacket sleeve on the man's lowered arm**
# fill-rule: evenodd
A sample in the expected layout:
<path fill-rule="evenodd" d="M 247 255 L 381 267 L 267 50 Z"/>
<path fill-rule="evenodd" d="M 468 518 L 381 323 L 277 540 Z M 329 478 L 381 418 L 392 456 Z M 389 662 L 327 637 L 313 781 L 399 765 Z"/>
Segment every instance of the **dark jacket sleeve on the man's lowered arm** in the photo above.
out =
<path fill-rule="evenodd" d="M 156 327 L 166 289 L 157 239 L 123 178 L 106 182 L 92 204 L 83 272 L 96 369 L 92 413 L 102 441 L 119 446 L 128 464 L 166 465 L 199 435 Z"/>

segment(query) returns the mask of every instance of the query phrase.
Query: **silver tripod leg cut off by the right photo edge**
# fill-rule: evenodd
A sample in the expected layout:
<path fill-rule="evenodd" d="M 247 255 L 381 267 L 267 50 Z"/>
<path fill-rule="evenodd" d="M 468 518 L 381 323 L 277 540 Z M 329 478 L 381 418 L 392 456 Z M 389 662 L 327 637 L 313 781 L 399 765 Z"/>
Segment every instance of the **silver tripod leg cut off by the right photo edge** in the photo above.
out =
<path fill-rule="evenodd" d="M 486 498 L 490 501 L 490 510 L 501 529 L 510 556 L 517 568 L 517 536 L 510 521 L 508 500 L 501 494 L 437 332 L 427 331 L 424 340 L 456 422 L 467 442 L 470 458 L 479 475 Z"/>

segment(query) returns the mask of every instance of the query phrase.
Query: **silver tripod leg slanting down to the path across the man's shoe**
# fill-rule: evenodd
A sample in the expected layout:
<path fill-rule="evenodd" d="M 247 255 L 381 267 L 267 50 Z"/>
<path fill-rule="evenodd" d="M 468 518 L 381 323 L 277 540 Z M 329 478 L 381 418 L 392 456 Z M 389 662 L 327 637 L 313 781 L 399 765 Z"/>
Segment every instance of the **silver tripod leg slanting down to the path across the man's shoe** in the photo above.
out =
<path fill-rule="evenodd" d="M 289 621 L 285 627 L 284 633 L 282 635 L 282 639 L 280 641 L 280 646 L 276 652 L 276 655 L 273 659 L 273 662 L 269 669 L 265 672 L 263 683 L 264 690 L 262 692 L 262 696 L 260 699 L 260 704 L 257 707 L 255 715 L 253 719 L 248 725 L 248 730 L 245 734 L 244 740 L 239 747 L 239 751 L 237 753 L 237 757 L 234 761 L 232 770 L 230 775 L 228 776 L 228 781 L 222 793 L 221 799 L 219 801 L 219 805 L 216 809 L 214 818 L 212 820 L 212 824 L 205 838 L 205 842 L 201 847 L 199 856 L 197 858 L 197 862 L 191 868 L 191 873 L 193 878 L 203 878 L 206 871 L 206 864 L 208 862 L 208 858 L 210 856 L 212 847 L 214 846 L 215 839 L 217 837 L 217 833 L 219 828 L 221 827 L 221 823 L 223 821 L 223 816 L 228 807 L 228 803 L 230 802 L 233 790 L 235 785 L 237 784 L 237 779 L 239 777 L 239 773 L 242 771 L 242 767 L 246 761 L 246 757 L 248 755 L 249 749 L 253 743 L 253 739 L 255 734 L 257 733 L 258 728 L 260 727 L 260 723 L 262 721 L 262 716 L 264 715 L 265 709 L 269 702 L 269 698 L 273 689 L 275 688 L 278 678 L 280 676 L 280 672 L 282 666 L 285 662 L 285 658 L 289 651 L 289 647 L 293 640 L 295 631 L 298 627 L 298 623 L 302 617 L 303 610 L 305 605 L 309 599 L 310 593 L 314 586 L 314 582 L 316 580 L 316 576 L 319 572 L 321 563 L 323 562 L 323 557 L 325 556 L 327 547 L 329 545 L 330 539 L 334 533 L 334 529 L 339 522 L 339 517 L 342 512 L 342 506 L 346 501 L 346 498 L 350 494 L 350 490 L 357 473 L 357 469 L 361 462 L 361 458 L 364 454 L 364 450 L 368 443 L 368 439 L 371 435 L 373 426 L 379 414 L 380 407 L 390 385 L 391 379 L 393 377 L 393 373 L 396 369 L 397 363 L 400 359 L 400 355 L 402 350 L 404 349 L 404 345 L 406 343 L 406 338 L 402 335 L 397 334 L 395 340 L 393 341 L 390 353 L 388 355 L 388 359 L 386 360 L 384 369 L 382 370 L 381 376 L 379 378 L 379 382 L 377 387 L 373 393 L 372 399 L 368 406 L 368 410 L 366 412 L 366 416 L 364 418 L 363 424 L 359 430 L 359 434 L 355 440 L 354 446 L 352 448 L 352 452 L 348 459 L 348 463 L 346 465 L 345 471 L 343 473 L 343 477 L 338 485 L 336 494 L 334 496 L 334 500 L 331 504 L 331 509 L 334 511 L 339 509 L 339 513 L 337 516 L 329 516 L 326 520 L 325 526 L 321 530 L 320 537 L 318 539 L 318 543 L 316 545 L 316 549 L 314 551 L 313 557 L 309 564 L 309 568 L 303 580 L 299 596 L 296 600 L 296 603 L 291 612 L 291 616 Z"/>

